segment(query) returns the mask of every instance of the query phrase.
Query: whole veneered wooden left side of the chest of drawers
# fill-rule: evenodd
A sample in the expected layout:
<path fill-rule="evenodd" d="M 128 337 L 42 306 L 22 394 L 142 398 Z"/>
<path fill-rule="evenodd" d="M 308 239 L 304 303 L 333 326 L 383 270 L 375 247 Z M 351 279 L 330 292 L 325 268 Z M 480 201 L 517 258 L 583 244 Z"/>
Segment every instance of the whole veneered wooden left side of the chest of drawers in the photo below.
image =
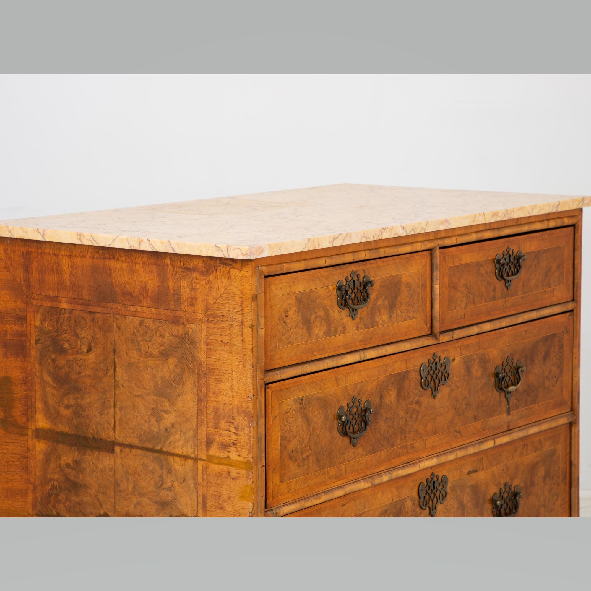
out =
<path fill-rule="evenodd" d="M 154 482 L 138 479 L 122 489 L 129 514 L 255 514 L 251 262 L 7 239 L 0 271 L 0 331 L 22 313 L 18 346 L 0 342 L 15 353 L 2 366 L 0 417 L 21 417 L 1 438 L 0 514 L 112 515 L 114 477 L 101 488 L 86 471 L 100 452 L 114 473 L 117 442 L 164 462 L 181 497 L 194 491 L 190 504 L 161 504 Z M 64 462 L 104 506 L 48 496 L 41 476 Z"/>

